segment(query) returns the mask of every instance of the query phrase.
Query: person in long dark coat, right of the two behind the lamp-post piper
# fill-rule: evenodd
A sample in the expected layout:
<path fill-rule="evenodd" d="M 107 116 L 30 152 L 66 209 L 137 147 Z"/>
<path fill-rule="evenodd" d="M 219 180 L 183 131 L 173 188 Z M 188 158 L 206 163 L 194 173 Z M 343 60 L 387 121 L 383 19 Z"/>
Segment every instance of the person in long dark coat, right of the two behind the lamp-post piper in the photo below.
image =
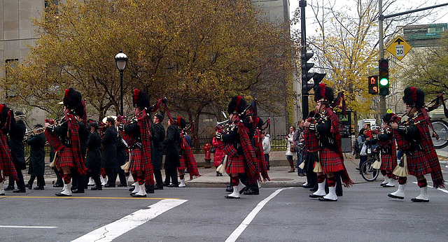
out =
<path fill-rule="evenodd" d="M 181 142 L 181 133 L 176 124 L 168 119 L 167 136 L 163 144 L 165 145 L 165 183 L 167 187 L 178 187 L 177 167 L 181 165 L 179 159 L 179 143 Z M 170 184 L 170 178 L 172 184 Z"/>

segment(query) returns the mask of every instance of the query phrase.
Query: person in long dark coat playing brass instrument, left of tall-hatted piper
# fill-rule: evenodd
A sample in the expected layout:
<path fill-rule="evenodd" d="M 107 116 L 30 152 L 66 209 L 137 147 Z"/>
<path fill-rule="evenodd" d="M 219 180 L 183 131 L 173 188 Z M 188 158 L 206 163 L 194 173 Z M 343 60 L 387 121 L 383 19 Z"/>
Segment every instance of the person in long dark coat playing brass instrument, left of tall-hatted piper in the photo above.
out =
<path fill-rule="evenodd" d="M 42 128 L 41 124 L 36 124 L 34 128 Z M 33 187 L 34 178 L 37 178 L 37 187 L 34 190 L 43 190 L 45 186 L 45 134 L 34 134 L 29 136 L 27 144 L 31 147 L 29 150 L 29 171 L 31 175 L 28 181 L 28 187 Z"/>

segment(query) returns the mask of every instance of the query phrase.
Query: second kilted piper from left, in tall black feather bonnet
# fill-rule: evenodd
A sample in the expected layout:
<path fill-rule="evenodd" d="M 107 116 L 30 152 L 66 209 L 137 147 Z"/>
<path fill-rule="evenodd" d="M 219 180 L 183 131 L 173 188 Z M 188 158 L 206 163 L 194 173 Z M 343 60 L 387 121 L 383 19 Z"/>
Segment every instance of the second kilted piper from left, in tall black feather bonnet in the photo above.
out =
<path fill-rule="evenodd" d="M 76 116 L 85 120 L 85 108 L 81 94 L 73 88 L 64 95 L 64 118 L 59 124 L 45 122 L 45 136 L 57 151 L 55 165 L 64 180 L 64 188 L 56 196 L 71 196 L 71 168 L 85 175 L 85 165 L 80 150 L 79 124 Z M 48 120 L 45 120 L 48 121 Z"/>

